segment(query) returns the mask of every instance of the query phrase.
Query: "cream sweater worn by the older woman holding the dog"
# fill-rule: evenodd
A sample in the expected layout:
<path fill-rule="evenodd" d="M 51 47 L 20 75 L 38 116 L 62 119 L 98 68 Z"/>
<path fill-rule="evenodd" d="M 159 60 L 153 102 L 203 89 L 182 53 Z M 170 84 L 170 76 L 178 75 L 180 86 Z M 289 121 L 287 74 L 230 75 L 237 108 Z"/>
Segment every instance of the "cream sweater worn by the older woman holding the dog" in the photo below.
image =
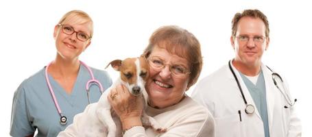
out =
<path fill-rule="evenodd" d="M 84 136 L 82 132 L 86 130 L 86 126 L 82 124 L 82 119 L 86 119 L 88 109 L 94 107 L 96 103 L 88 105 L 83 113 L 77 114 L 74 118 L 73 124 L 69 125 L 67 129 L 60 132 L 58 136 Z M 213 116 L 202 105 L 193 101 L 190 97 L 185 97 L 180 103 L 172 105 L 168 108 L 158 110 L 147 106 L 146 110 L 149 116 L 162 126 L 167 128 L 164 134 L 157 134 L 152 128 L 144 129 L 144 127 L 137 126 L 128 129 L 123 135 L 124 137 L 141 137 L 141 136 L 186 136 L 186 137 L 214 137 L 215 136 L 215 121 Z M 117 136 L 121 134 L 121 123 L 117 116 L 113 115 L 115 123 L 117 123 Z M 92 121 L 89 121 L 92 122 Z M 92 134 L 92 133 L 91 133 Z M 93 133 L 94 134 L 94 133 Z M 94 136 L 94 135 L 92 135 Z"/>

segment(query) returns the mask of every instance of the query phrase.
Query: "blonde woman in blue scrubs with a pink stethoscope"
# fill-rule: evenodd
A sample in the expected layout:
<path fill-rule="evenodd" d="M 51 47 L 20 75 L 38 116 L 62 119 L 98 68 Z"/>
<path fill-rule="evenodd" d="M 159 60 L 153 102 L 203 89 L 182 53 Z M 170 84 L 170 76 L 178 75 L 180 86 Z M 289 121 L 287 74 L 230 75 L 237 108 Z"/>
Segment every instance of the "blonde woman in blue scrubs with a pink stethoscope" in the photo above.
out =
<path fill-rule="evenodd" d="M 90 68 L 79 55 L 91 44 L 93 21 L 73 10 L 64 14 L 53 33 L 56 58 L 25 79 L 14 93 L 11 136 L 57 136 L 88 103 L 97 102 L 112 80 Z"/>

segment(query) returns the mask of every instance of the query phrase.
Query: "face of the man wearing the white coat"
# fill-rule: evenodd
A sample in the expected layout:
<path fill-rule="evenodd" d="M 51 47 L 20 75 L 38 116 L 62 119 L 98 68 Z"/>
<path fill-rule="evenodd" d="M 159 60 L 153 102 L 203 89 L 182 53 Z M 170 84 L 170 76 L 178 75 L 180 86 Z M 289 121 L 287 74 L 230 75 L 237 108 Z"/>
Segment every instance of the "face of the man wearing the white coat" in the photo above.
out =
<path fill-rule="evenodd" d="M 241 41 L 237 37 L 248 38 Z M 264 37 L 263 42 L 256 42 L 253 38 Z M 260 66 L 263 52 L 269 45 L 269 38 L 265 38 L 265 24 L 260 18 L 245 16 L 239 20 L 237 33 L 231 37 L 235 60 L 233 63 L 245 66 Z"/>

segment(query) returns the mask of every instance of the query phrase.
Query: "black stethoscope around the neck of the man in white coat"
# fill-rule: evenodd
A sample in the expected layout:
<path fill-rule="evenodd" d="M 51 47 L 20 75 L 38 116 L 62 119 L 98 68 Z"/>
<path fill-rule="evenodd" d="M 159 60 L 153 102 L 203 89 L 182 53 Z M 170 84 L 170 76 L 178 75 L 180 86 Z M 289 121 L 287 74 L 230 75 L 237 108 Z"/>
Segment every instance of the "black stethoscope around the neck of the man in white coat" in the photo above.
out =
<path fill-rule="evenodd" d="M 241 84 L 239 84 L 239 79 L 237 79 L 237 76 L 235 75 L 235 73 L 232 69 L 230 61 L 228 62 L 228 67 L 230 68 L 230 71 L 232 72 L 232 75 L 235 77 L 235 81 L 236 81 L 237 85 L 239 86 L 239 91 L 241 92 L 241 96 L 243 97 L 243 101 L 246 105 L 245 112 L 246 112 L 246 114 L 253 114 L 254 113 L 254 105 L 247 103 L 247 101 L 245 99 L 245 95 L 243 95 L 243 90 L 241 89 Z M 267 69 L 269 69 L 268 66 L 267 66 Z M 269 69 L 269 70 L 272 71 L 272 69 Z M 284 108 L 291 108 L 293 105 L 295 105 L 297 99 L 294 99 L 294 101 L 291 101 L 289 95 L 285 91 L 285 85 L 284 85 L 282 77 L 280 77 L 280 75 L 278 75 L 278 73 L 274 73 L 272 71 L 272 79 L 273 79 L 274 85 L 278 88 L 278 90 L 280 90 L 280 93 L 282 93 L 283 97 L 285 98 L 285 100 L 287 101 L 287 103 L 289 105 L 289 106 L 285 105 Z M 285 92 L 283 92 L 280 89 L 280 87 L 278 86 L 278 83 L 281 83 L 283 85 L 283 89 Z"/>

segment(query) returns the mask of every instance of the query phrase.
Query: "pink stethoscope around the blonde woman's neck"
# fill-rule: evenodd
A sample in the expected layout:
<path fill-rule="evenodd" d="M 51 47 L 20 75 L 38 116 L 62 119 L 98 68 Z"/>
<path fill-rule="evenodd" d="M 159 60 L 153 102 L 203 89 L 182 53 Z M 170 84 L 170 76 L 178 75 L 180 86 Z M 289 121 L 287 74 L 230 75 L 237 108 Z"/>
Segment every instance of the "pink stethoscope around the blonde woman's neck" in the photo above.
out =
<path fill-rule="evenodd" d="M 60 124 L 61 125 L 66 125 L 67 124 L 67 117 L 66 116 L 63 116 L 62 115 L 62 110 L 60 110 L 60 105 L 58 105 L 58 101 L 56 100 L 56 96 L 54 95 L 54 91 L 52 89 L 52 86 L 50 84 L 50 81 L 49 81 L 49 77 L 48 77 L 48 68 L 50 66 L 52 62 L 50 62 L 46 67 L 45 67 L 45 79 L 47 81 L 47 85 L 48 85 L 48 88 L 50 90 L 50 93 L 51 93 L 51 96 L 53 98 L 53 102 L 54 102 L 54 105 L 56 105 L 56 108 L 58 109 L 58 114 L 60 114 Z M 84 67 L 86 67 L 86 69 L 88 69 L 88 72 L 90 73 L 91 75 L 91 79 L 88 80 L 88 82 L 86 82 L 86 94 L 88 96 L 88 103 L 90 104 L 90 97 L 89 97 L 89 92 L 90 92 L 90 86 L 91 84 L 96 84 L 98 87 L 99 87 L 99 90 L 101 91 L 101 93 L 104 92 L 104 88 L 103 86 L 101 85 L 101 82 L 99 82 L 97 79 L 95 79 L 90 67 L 88 67 L 84 62 L 80 61 L 80 64 L 84 65 Z"/>

